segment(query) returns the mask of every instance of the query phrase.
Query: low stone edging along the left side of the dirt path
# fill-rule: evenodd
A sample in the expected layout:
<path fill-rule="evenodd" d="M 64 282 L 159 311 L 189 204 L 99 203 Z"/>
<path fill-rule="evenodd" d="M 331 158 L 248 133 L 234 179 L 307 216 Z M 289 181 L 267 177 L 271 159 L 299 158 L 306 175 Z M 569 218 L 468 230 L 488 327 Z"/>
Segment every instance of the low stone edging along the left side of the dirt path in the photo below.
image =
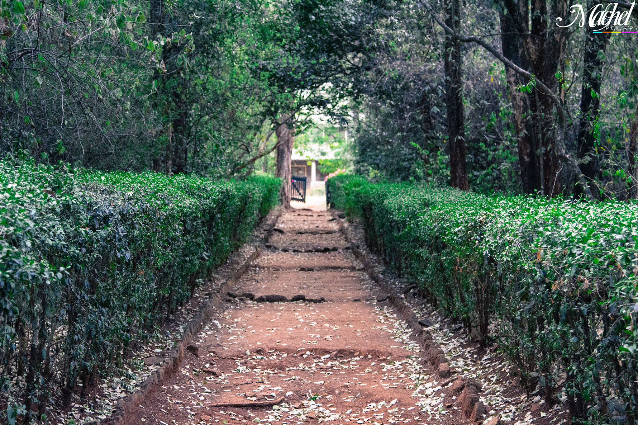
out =
<path fill-rule="evenodd" d="M 184 359 L 184 350 L 186 350 L 186 347 L 188 347 L 188 345 L 193 341 L 193 338 L 195 338 L 202 328 L 204 328 L 204 324 L 207 323 L 209 319 L 218 312 L 218 310 L 223 310 L 223 307 L 226 305 L 223 300 L 226 292 L 231 289 L 235 283 L 244 276 L 244 274 L 246 274 L 249 270 L 250 264 L 261 255 L 262 249 L 259 245 L 263 245 L 263 243 L 270 239 L 272 231 L 277 225 L 282 213 L 283 208 L 278 208 L 278 211 L 274 213 L 272 223 L 269 225 L 266 224 L 266 232 L 263 234 L 259 243 L 256 244 L 258 246 L 256 247 L 255 252 L 253 252 L 253 254 L 244 261 L 244 264 L 242 264 L 240 268 L 235 270 L 228 279 L 219 285 L 217 291 L 209 294 L 208 301 L 199 308 L 197 315 L 195 315 L 195 317 L 193 317 L 193 319 L 184 326 L 182 338 L 175 342 L 175 346 L 170 350 L 168 357 L 159 364 L 159 369 L 151 373 L 151 375 L 142 382 L 138 391 L 117 400 L 117 403 L 115 404 L 115 414 L 110 416 L 103 423 L 108 425 L 126 425 L 133 409 L 140 405 L 144 405 L 146 401 L 152 397 L 152 394 L 164 384 L 165 380 L 172 377 L 175 373 L 177 373 L 177 371 L 179 371 L 179 366 Z M 239 261 L 240 260 L 238 259 L 237 263 L 239 263 Z M 92 421 L 87 422 L 85 425 L 100 425 L 100 423 L 100 421 Z"/>

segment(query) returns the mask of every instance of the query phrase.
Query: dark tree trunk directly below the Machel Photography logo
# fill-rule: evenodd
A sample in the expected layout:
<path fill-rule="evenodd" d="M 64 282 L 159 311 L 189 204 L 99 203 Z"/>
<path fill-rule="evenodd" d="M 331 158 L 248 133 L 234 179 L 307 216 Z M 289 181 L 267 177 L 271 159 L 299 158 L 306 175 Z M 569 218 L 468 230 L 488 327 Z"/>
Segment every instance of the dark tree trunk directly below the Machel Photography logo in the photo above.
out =
<path fill-rule="evenodd" d="M 590 8 L 593 4 L 589 4 Z M 594 28 L 593 31 L 598 31 Z M 605 51 L 609 42 L 610 34 L 585 33 L 585 52 L 582 66 L 582 88 L 580 122 L 578 131 L 578 159 L 585 160 L 581 164 L 582 174 L 588 183 L 593 182 L 596 177 L 597 157 L 595 154 L 595 137 L 593 133 L 593 122 L 600 110 L 600 83 L 602 82 L 602 60 L 598 57 L 598 52 Z M 592 96 L 592 92 L 594 96 Z"/>

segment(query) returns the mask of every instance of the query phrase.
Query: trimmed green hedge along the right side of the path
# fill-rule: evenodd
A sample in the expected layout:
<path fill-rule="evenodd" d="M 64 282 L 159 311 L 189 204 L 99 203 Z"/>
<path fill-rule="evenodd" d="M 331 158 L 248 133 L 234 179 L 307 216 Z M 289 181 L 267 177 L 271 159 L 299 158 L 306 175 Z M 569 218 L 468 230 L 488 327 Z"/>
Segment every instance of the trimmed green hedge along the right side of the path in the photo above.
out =
<path fill-rule="evenodd" d="M 329 180 L 368 247 L 578 421 L 637 419 L 638 205 Z M 614 410 L 616 413 L 614 413 Z M 612 416 L 618 416 L 612 419 Z"/>

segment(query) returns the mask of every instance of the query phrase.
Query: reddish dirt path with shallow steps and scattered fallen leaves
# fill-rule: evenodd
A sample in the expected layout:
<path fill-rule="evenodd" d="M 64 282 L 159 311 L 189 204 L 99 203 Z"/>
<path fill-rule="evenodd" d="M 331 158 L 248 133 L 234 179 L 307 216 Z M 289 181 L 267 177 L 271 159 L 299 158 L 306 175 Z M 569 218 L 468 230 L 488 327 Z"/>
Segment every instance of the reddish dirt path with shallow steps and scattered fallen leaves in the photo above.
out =
<path fill-rule="evenodd" d="M 195 342 L 197 356 L 187 352 L 130 423 L 468 422 L 320 209 L 283 214 L 237 298 Z M 256 302 L 269 295 L 306 300 Z"/>

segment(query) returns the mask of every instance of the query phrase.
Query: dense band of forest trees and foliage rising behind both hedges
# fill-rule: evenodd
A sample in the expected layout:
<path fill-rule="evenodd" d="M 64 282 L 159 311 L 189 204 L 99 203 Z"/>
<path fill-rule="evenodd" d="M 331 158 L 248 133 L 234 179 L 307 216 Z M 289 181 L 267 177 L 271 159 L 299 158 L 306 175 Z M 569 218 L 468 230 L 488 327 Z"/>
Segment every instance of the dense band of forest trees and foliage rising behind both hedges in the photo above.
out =
<path fill-rule="evenodd" d="M 633 6 L 570 6 L 3 0 L 0 151 L 285 176 L 277 158 L 323 122 L 376 180 L 635 198 L 634 38 L 593 32 Z"/>

